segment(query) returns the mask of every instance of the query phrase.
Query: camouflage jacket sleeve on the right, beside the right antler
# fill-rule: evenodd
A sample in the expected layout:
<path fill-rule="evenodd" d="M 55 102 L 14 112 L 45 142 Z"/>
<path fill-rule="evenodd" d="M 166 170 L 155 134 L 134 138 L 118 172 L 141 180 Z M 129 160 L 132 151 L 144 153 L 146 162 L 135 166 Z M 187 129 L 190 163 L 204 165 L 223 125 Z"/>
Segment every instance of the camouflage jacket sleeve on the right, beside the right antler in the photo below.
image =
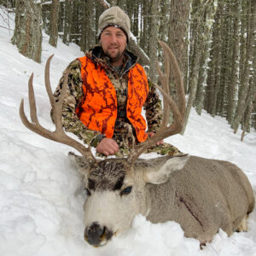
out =
<path fill-rule="evenodd" d="M 146 119 L 148 122 L 148 131 L 158 131 L 162 121 L 162 105 L 160 97 L 156 91 L 154 84 L 148 79 L 148 97 L 144 103 L 146 110 Z"/>

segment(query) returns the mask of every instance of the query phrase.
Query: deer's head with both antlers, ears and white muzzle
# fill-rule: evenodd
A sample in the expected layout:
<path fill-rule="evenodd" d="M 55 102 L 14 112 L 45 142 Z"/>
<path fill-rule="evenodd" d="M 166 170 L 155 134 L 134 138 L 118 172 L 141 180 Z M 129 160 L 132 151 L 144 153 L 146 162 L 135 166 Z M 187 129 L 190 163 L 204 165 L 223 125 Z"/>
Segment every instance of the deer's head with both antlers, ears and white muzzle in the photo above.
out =
<path fill-rule="evenodd" d="M 91 153 L 90 145 L 86 148 L 82 143 L 68 137 L 64 132 L 61 123 L 61 110 L 67 90 L 67 73 L 64 74 L 61 98 L 55 102 L 49 84 L 49 63 L 53 55 L 49 57 L 45 66 L 45 87 L 49 102 L 54 109 L 55 131 L 45 129 L 38 122 L 32 86 L 33 75 L 28 82 L 31 122 L 26 118 L 23 99 L 20 102 L 20 119 L 28 129 L 55 142 L 67 144 L 82 154 L 82 156 L 71 155 L 79 172 L 84 177 L 88 195 L 84 202 L 84 238 L 94 246 L 105 244 L 113 234 L 129 229 L 132 218 L 137 213 L 147 215 L 150 200 L 148 199 L 146 184 L 165 183 L 170 174 L 181 169 L 188 160 L 186 156 L 178 158 L 164 156 L 150 161 L 138 160 L 138 157 L 147 148 L 154 146 L 166 137 L 177 134 L 183 127 L 185 96 L 182 76 L 172 50 L 163 42 L 160 42 L 160 45 L 164 50 L 165 72 L 160 71 L 158 64 L 158 73 L 162 84 L 162 88 L 158 87 L 158 89 L 163 94 L 164 119 L 160 131 L 154 137 L 150 137 L 146 142 L 137 145 L 133 143 L 131 154 L 127 158 L 97 160 Z M 169 95 L 171 63 L 177 87 L 177 104 Z M 170 109 L 173 113 L 173 122 L 172 125 L 168 126 Z"/>

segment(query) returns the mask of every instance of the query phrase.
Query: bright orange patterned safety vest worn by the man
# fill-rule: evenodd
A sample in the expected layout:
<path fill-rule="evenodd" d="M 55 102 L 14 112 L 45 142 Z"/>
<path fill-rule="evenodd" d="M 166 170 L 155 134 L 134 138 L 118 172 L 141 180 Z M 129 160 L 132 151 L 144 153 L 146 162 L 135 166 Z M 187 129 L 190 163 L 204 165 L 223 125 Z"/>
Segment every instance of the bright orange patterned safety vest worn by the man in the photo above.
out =
<path fill-rule="evenodd" d="M 86 56 L 79 58 L 79 61 L 82 64 L 84 100 L 76 113 L 87 128 L 111 138 L 118 112 L 113 84 L 101 65 L 96 68 L 95 63 Z M 128 78 L 126 116 L 135 128 L 137 140 L 143 142 L 148 137 L 146 121 L 142 116 L 143 104 L 148 96 L 148 79 L 139 64 L 131 67 Z"/>

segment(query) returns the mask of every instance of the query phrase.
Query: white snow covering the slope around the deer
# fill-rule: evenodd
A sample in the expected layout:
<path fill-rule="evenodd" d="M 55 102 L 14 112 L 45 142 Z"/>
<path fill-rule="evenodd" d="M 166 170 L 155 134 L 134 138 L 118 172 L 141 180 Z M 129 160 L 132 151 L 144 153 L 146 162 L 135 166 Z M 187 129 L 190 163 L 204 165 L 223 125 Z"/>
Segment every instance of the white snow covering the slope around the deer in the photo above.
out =
<path fill-rule="evenodd" d="M 14 28 L 14 17 L 10 17 Z M 248 231 L 227 237 L 219 230 L 212 243 L 200 250 L 199 241 L 185 238 L 179 224 L 151 224 L 137 216 L 122 236 L 105 247 L 91 247 L 83 239 L 83 184 L 67 153 L 73 148 L 39 137 L 22 125 L 20 99 L 28 113 L 27 81 L 34 73 L 38 119 L 54 131 L 44 89 L 44 65 L 55 54 L 50 68 L 53 90 L 70 61 L 82 56 L 79 47 L 48 44 L 44 34 L 42 64 L 20 55 L 10 43 L 13 32 L 0 20 L 0 255 L 3 256 L 245 256 L 256 255 L 256 210 L 248 219 Z M 192 109 L 185 135 L 170 137 L 183 152 L 230 160 L 247 174 L 256 191 L 256 131 L 240 141 L 226 120 L 214 119 Z M 150 157 L 149 156 L 144 157 Z"/>

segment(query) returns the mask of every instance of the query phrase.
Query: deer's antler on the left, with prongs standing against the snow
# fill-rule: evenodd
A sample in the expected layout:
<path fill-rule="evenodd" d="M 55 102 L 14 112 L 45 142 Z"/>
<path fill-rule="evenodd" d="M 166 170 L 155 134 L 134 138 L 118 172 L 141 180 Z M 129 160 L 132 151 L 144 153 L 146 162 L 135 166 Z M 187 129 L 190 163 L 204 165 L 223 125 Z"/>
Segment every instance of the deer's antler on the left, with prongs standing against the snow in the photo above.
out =
<path fill-rule="evenodd" d="M 31 116 L 32 122 L 29 122 L 29 120 L 26 118 L 26 114 L 24 112 L 24 99 L 22 99 L 20 102 L 20 119 L 23 125 L 25 125 L 26 128 L 28 128 L 29 130 L 36 132 L 39 135 L 48 138 L 49 140 L 71 146 L 77 149 L 85 158 L 96 161 L 95 157 L 90 151 L 90 145 L 89 145 L 89 148 L 84 147 L 83 144 L 77 142 L 72 137 L 68 137 L 65 131 L 63 130 L 63 126 L 61 122 L 61 112 L 62 112 L 63 99 L 67 91 L 68 73 L 64 73 L 64 83 L 62 87 L 61 97 L 58 102 L 55 102 L 52 94 L 52 90 L 50 87 L 50 83 L 49 83 L 49 64 L 52 57 L 53 55 L 51 55 L 48 61 L 46 62 L 44 77 L 45 77 L 45 88 L 49 96 L 49 102 L 52 108 L 54 109 L 55 131 L 49 131 L 45 129 L 38 122 L 37 108 L 36 108 L 36 102 L 35 102 L 35 96 L 34 96 L 34 90 L 33 90 L 33 84 L 32 84 L 33 73 L 28 81 L 28 97 L 29 97 L 29 105 L 30 105 L 30 116 Z"/>

